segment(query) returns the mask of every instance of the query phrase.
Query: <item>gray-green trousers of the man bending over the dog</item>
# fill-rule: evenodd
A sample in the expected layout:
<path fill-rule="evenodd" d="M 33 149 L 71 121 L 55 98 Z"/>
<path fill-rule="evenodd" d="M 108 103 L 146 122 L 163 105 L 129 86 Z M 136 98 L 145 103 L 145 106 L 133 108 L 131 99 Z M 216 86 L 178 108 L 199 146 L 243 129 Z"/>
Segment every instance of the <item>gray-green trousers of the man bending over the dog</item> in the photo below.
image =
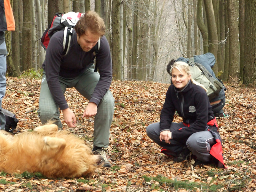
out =
<path fill-rule="evenodd" d="M 75 87 L 76 90 L 88 100 L 91 99 L 99 79 L 100 74 L 98 72 L 95 73 L 94 68 L 87 69 L 82 75 L 73 79 L 59 77 L 63 94 L 67 88 Z M 109 129 L 112 123 L 113 114 L 114 98 L 112 93 L 108 90 L 100 101 L 97 114 L 94 117 L 93 145 L 102 148 L 108 147 Z M 59 128 L 62 127 L 59 106 L 52 97 L 45 75 L 42 77 L 38 117 L 42 124 L 47 123 L 49 120 L 53 120 L 56 121 Z"/>

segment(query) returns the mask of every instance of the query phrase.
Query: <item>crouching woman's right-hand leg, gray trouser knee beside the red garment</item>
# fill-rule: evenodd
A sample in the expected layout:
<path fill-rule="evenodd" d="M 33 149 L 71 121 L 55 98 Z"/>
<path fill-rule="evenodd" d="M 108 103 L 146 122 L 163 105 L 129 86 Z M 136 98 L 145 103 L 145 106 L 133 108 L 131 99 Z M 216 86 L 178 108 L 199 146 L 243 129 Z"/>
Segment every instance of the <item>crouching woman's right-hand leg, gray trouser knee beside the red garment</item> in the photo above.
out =
<path fill-rule="evenodd" d="M 190 135 L 186 145 L 193 155 L 201 162 L 212 160 L 210 150 L 214 145 L 214 138 L 209 131 L 196 132 Z"/>

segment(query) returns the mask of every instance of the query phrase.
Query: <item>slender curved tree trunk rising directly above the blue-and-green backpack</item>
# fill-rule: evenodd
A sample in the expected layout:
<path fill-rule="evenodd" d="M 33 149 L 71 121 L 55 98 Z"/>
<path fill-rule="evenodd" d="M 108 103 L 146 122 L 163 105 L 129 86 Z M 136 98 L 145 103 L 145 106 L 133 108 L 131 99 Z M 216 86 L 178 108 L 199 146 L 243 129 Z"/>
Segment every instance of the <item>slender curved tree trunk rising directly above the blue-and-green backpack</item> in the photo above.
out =
<path fill-rule="evenodd" d="M 201 31 L 202 38 L 203 38 L 203 48 L 204 48 L 204 53 L 208 52 L 208 32 L 207 32 L 207 27 L 204 25 L 204 19 L 202 16 L 202 0 L 197 1 L 197 12 L 196 12 L 196 22 L 198 25 L 199 30 Z"/>

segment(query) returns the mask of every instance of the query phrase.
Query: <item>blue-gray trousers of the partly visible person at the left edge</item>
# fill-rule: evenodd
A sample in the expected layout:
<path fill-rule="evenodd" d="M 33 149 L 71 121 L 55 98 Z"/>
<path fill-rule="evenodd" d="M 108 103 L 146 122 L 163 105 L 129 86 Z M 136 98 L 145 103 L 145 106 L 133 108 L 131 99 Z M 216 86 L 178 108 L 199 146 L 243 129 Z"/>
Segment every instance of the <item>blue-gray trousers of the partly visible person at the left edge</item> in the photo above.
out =
<path fill-rule="evenodd" d="M 0 44 L 0 50 L 6 50 L 5 42 Z M 2 110 L 2 100 L 6 90 L 6 55 L 0 54 L 0 129 L 4 129 L 5 126 L 5 115 Z"/>

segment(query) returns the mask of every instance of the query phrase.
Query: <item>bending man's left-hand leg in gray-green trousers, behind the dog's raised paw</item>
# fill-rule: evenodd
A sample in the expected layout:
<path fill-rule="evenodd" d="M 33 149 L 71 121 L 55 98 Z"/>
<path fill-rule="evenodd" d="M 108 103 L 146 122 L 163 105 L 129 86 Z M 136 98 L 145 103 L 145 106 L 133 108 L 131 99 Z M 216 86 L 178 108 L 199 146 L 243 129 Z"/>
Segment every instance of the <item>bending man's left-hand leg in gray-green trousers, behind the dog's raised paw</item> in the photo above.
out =
<path fill-rule="evenodd" d="M 64 93 L 66 91 L 66 85 L 61 83 L 61 89 Z M 45 124 L 48 121 L 53 121 L 53 123 L 58 125 L 60 129 L 62 128 L 59 106 L 52 97 L 52 93 L 49 90 L 45 74 L 43 74 L 42 77 L 41 90 L 39 95 L 39 108 L 37 112 L 42 124 Z"/>

